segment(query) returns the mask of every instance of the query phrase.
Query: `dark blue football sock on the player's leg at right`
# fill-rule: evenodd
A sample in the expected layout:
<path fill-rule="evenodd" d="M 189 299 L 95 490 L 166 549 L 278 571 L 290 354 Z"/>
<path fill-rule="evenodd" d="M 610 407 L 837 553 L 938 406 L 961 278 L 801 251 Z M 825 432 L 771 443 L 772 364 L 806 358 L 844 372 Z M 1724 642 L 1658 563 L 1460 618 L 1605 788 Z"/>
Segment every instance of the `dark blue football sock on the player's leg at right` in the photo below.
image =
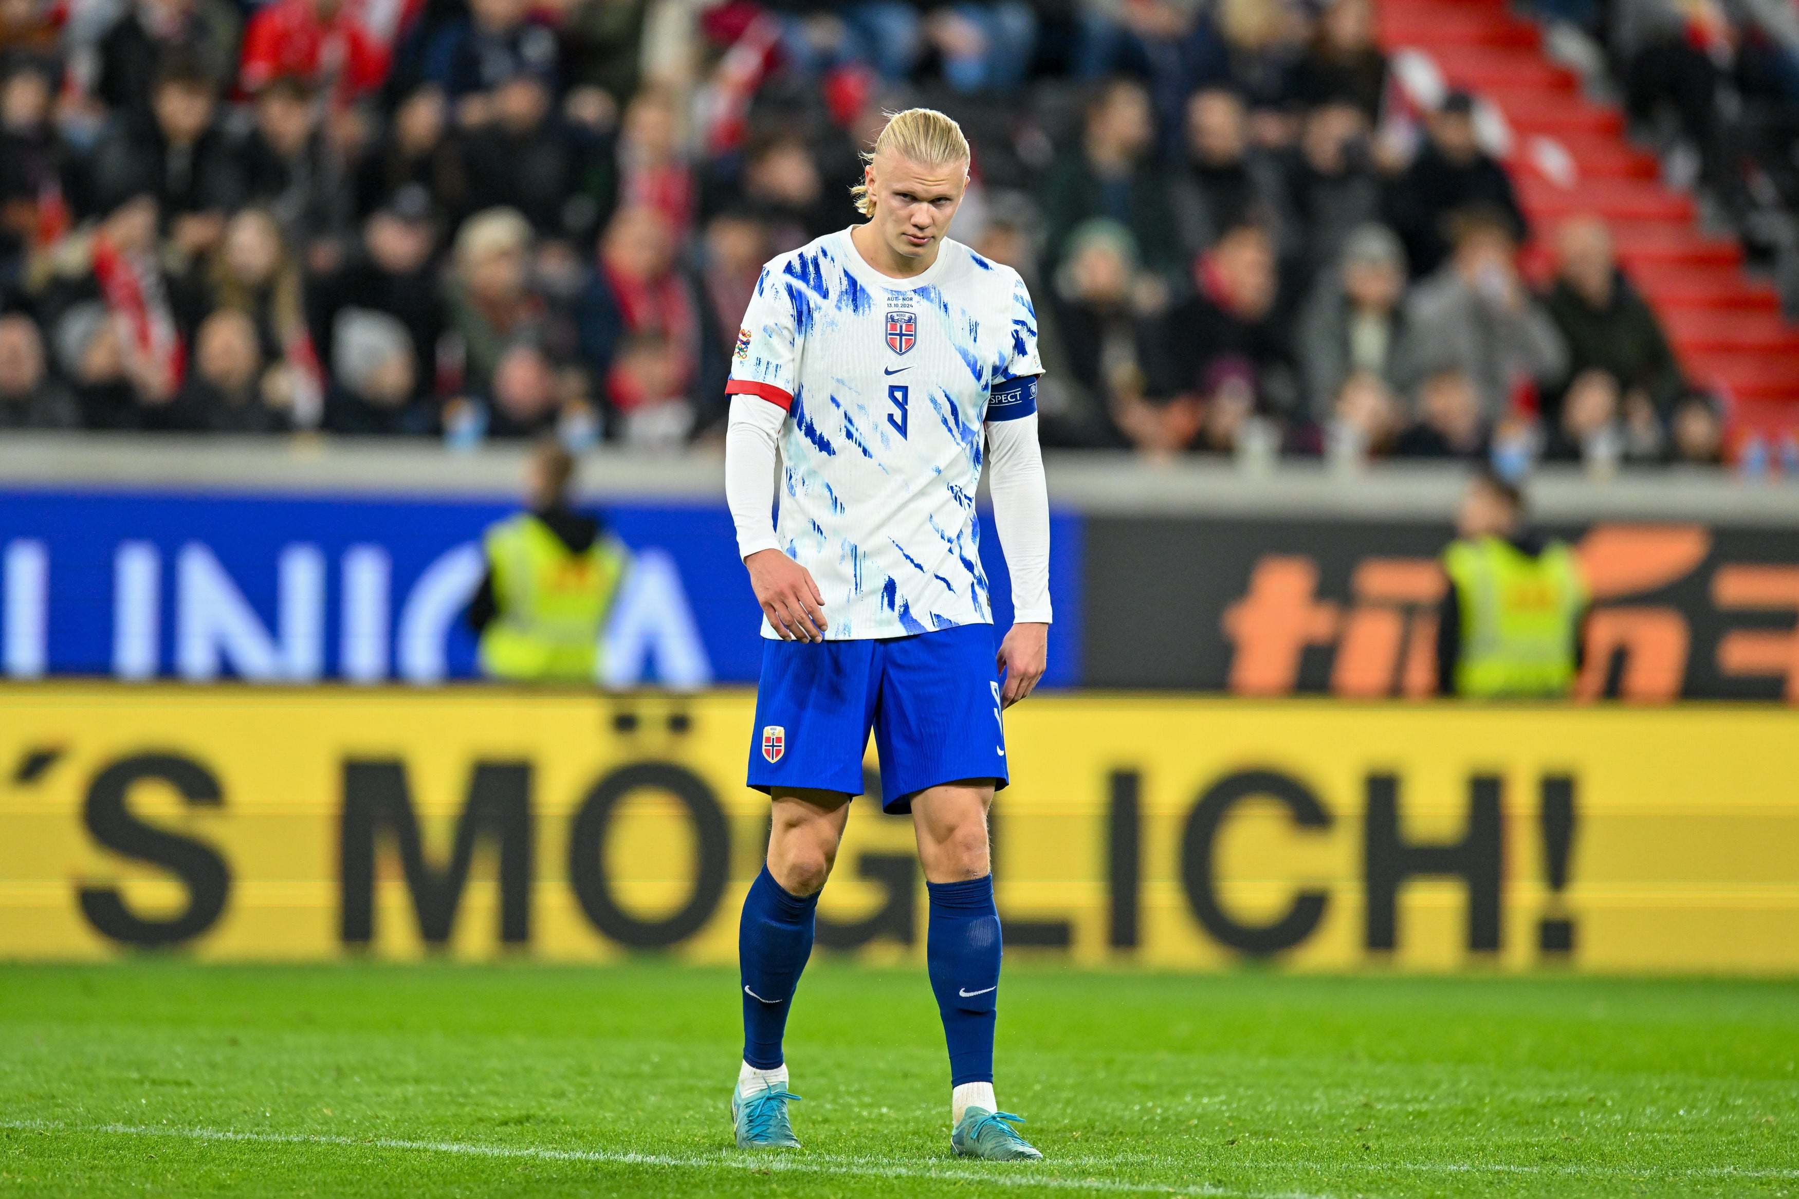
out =
<path fill-rule="evenodd" d="M 1000 911 L 993 875 L 925 883 L 930 892 L 930 989 L 937 992 L 950 1044 L 950 1086 L 993 1082 L 993 1023 L 998 1017 Z"/>

